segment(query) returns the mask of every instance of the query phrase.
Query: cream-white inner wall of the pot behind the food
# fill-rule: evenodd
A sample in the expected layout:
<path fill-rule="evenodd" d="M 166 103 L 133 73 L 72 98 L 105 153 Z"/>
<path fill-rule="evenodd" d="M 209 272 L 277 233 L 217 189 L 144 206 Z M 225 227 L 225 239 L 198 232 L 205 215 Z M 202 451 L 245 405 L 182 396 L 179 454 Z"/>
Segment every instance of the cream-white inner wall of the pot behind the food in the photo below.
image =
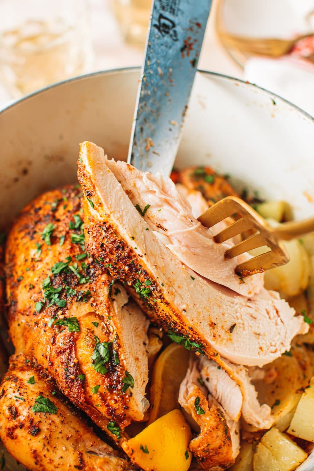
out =
<path fill-rule="evenodd" d="M 139 69 L 93 73 L 0 112 L 0 228 L 34 196 L 76 180 L 79 143 L 125 159 Z M 314 119 L 254 85 L 198 72 L 176 166 L 210 165 L 236 187 L 314 215 Z M 312 464 L 311 464 L 312 463 Z M 314 456 L 299 471 L 311 471 Z"/>

